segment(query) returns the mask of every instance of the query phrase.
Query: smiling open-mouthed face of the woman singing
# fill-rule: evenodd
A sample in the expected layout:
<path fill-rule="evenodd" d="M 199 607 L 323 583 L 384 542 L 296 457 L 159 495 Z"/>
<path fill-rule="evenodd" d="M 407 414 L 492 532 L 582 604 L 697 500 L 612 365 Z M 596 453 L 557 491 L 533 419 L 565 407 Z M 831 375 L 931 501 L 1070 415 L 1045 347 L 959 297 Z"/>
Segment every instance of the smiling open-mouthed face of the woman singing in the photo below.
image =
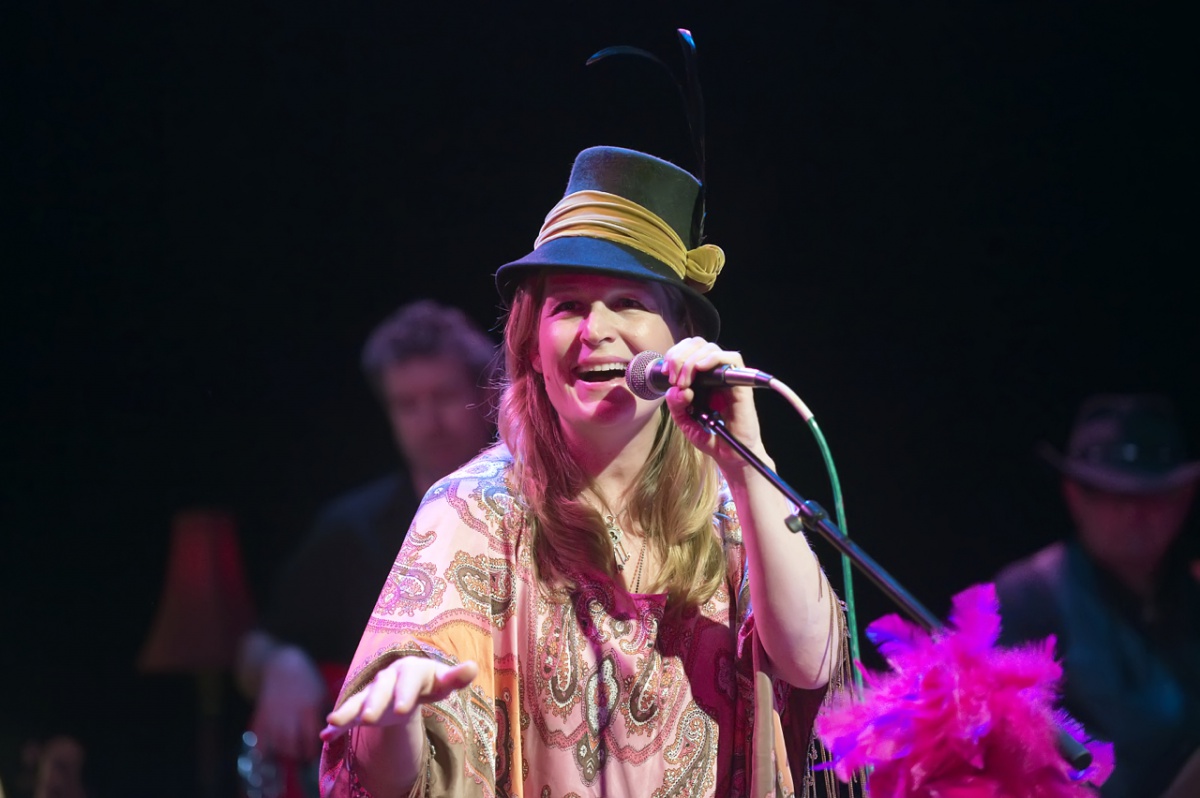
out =
<path fill-rule="evenodd" d="M 551 274 L 545 282 L 533 367 L 568 433 L 587 438 L 614 425 L 636 431 L 662 400 L 635 397 L 625 366 L 640 352 L 666 352 L 678 325 L 658 283 L 589 274 Z"/>

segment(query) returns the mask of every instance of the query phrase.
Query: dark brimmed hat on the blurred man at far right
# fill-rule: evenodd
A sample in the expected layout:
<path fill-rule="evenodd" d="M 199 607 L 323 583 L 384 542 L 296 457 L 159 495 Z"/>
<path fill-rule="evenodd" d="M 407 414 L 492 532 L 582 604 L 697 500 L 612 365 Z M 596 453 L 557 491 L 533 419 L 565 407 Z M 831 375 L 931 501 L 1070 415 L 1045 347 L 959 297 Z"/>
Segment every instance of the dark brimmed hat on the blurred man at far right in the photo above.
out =
<path fill-rule="evenodd" d="M 1105 394 L 1080 407 L 1066 451 L 1039 444 L 1055 469 L 1115 493 L 1159 493 L 1200 480 L 1183 428 L 1165 396 Z"/>

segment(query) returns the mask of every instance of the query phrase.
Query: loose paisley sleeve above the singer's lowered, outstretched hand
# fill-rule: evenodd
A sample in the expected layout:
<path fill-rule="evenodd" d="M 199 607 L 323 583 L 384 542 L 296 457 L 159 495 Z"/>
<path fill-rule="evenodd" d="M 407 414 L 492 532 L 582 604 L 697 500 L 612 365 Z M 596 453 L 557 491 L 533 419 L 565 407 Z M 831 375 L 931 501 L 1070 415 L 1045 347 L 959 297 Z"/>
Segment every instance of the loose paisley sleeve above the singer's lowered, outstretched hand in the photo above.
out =
<path fill-rule="evenodd" d="M 426 494 L 359 642 L 338 704 L 402 656 L 474 660 L 475 682 L 422 707 L 425 767 L 414 796 L 493 796 L 496 658 L 493 630 L 511 599 L 514 538 L 503 463 L 480 458 Z M 517 514 L 520 515 L 520 514 Z M 358 798 L 352 731 L 325 746 L 322 794 Z M 384 798 L 382 796 L 377 798 Z"/>

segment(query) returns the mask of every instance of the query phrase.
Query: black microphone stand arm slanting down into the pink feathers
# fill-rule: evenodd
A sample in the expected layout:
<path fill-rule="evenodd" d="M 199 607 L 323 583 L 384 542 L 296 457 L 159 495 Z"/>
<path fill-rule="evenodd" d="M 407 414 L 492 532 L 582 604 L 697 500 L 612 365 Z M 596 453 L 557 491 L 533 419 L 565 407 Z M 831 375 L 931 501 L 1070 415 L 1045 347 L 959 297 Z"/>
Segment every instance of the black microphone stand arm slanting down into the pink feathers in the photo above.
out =
<path fill-rule="evenodd" d="M 691 418 L 696 419 L 696 421 L 698 421 L 702 426 L 720 436 L 725 443 L 730 444 L 730 446 L 738 452 L 738 455 L 754 466 L 755 470 L 766 476 L 767 481 L 774 485 L 780 493 L 799 508 L 798 514 L 790 515 L 785 520 L 788 529 L 792 532 L 809 529 L 818 533 L 841 554 L 848 557 L 850 562 L 853 563 L 859 571 L 862 571 L 876 587 L 883 590 L 883 593 L 892 599 L 896 606 L 924 626 L 926 631 L 934 632 L 942 629 L 942 623 L 938 620 L 937 616 L 922 605 L 920 601 L 918 601 L 895 580 L 895 577 L 883 570 L 883 568 L 869 557 L 858 544 L 846 536 L 846 534 L 838 528 L 838 524 L 829 520 L 829 514 L 826 512 L 824 508 L 816 502 L 805 499 L 800 496 L 791 485 L 785 482 L 779 474 L 762 462 L 757 455 L 746 449 L 745 444 L 733 437 L 733 433 L 726 428 L 725 420 L 721 418 L 721 414 L 708 407 L 707 401 L 703 398 L 703 392 L 697 391 L 696 401 L 692 403 L 689 413 L 691 414 Z M 1056 730 L 1055 742 L 1058 746 L 1058 752 L 1075 770 L 1082 770 L 1092 763 L 1092 752 L 1084 748 L 1082 743 L 1072 737 L 1062 726 L 1058 726 Z"/>

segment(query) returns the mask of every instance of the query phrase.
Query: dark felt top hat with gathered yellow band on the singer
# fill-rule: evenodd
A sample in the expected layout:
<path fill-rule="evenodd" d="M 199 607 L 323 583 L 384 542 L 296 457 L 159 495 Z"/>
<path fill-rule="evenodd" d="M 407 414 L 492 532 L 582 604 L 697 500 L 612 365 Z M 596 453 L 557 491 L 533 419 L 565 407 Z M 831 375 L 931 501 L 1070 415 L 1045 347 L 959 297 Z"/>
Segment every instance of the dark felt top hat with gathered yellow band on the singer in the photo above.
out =
<path fill-rule="evenodd" d="M 672 286 L 683 294 L 697 332 L 715 340 L 721 319 L 704 296 L 725 256 L 700 241 L 700 181 L 636 150 L 594 146 L 580 152 L 563 199 L 546 216 L 533 251 L 496 272 L 505 304 L 542 271 L 588 271 Z"/>

